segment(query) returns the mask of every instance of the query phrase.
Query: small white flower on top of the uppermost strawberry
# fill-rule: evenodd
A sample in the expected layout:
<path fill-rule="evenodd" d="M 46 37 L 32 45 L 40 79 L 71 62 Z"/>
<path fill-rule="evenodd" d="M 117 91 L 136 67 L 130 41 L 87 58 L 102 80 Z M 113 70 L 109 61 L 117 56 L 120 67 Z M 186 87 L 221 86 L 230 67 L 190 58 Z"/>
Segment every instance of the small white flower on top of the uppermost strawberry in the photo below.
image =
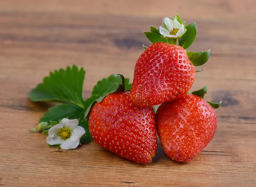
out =
<path fill-rule="evenodd" d="M 184 25 L 180 24 L 175 17 L 174 20 L 165 17 L 163 27 L 160 26 L 160 34 L 165 38 L 179 38 L 184 34 Z"/>

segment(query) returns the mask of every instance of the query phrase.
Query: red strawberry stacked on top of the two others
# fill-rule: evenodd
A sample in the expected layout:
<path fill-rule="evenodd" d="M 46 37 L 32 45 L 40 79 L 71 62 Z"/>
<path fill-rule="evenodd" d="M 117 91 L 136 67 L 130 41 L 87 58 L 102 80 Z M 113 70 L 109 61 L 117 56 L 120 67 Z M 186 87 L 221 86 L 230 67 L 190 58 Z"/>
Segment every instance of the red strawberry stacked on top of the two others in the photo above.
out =
<path fill-rule="evenodd" d="M 131 101 L 141 107 L 173 101 L 189 91 L 194 79 L 195 67 L 185 49 L 153 43 L 135 65 Z"/>

